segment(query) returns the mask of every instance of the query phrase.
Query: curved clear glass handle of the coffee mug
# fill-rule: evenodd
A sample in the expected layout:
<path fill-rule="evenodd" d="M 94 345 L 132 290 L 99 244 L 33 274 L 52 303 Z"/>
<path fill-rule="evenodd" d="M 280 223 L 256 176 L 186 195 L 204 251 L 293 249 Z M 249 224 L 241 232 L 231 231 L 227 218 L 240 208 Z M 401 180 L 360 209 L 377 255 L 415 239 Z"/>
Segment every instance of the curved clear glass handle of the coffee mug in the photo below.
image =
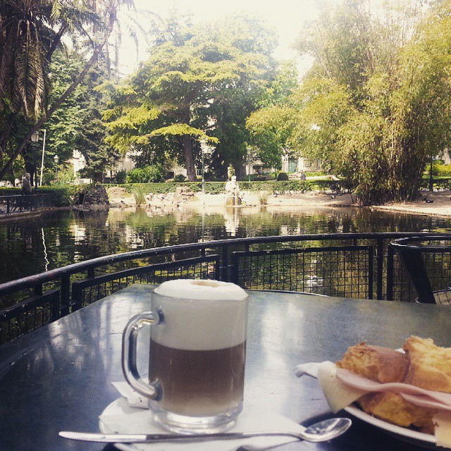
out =
<path fill-rule="evenodd" d="M 144 311 L 128 321 L 122 335 L 122 371 L 125 380 L 137 393 L 151 400 L 158 400 L 161 397 L 161 389 L 158 383 L 147 384 L 142 382 L 136 364 L 136 345 L 140 330 L 144 326 L 152 326 L 152 324 L 159 322 L 161 322 L 161 316 L 158 312 Z"/>

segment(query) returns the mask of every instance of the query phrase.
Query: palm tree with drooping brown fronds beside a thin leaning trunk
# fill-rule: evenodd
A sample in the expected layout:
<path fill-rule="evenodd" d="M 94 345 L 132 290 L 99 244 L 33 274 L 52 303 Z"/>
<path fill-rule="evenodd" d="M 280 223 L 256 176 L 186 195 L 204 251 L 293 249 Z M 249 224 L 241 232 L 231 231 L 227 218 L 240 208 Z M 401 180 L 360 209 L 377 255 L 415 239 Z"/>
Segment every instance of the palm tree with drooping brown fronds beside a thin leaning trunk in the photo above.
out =
<path fill-rule="evenodd" d="M 33 132 L 39 130 L 73 92 L 104 47 L 118 8 L 132 0 L 2 0 L 0 3 L 0 180 L 20 155 Z M 80 35 L 91 44 L 85 67 L 53 105 L 47 107 L 49 61 L 63 35 Z M 18 116 L 34 123 L 18 137 L 16 149 L 8 149 Z M 10 146 L 11 147 L 11 146 Z M 9 150 L 9 152 L 7 152 Z"/>

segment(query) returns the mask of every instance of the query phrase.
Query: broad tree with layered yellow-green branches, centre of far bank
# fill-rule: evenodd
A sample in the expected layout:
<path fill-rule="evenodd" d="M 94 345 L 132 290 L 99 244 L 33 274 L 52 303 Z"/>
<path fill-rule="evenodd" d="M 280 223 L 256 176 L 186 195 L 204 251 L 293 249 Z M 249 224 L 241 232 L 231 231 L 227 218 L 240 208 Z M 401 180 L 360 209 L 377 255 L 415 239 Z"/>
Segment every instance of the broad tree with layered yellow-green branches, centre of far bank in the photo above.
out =
<path fill-rule="evenodd" d="M 104 113 L 111 144 L 183 159 L 189 180 L 196 180 L 201 140 L 216 144 L 223 166 L 242 160 L 245 118 L 268 73 L 268 58 L 234 45 L 218 29 L 189 27 L 173 33 L 173 39 L 150 50 L 127 85 L 105 87 L 112 96 Z"/>

